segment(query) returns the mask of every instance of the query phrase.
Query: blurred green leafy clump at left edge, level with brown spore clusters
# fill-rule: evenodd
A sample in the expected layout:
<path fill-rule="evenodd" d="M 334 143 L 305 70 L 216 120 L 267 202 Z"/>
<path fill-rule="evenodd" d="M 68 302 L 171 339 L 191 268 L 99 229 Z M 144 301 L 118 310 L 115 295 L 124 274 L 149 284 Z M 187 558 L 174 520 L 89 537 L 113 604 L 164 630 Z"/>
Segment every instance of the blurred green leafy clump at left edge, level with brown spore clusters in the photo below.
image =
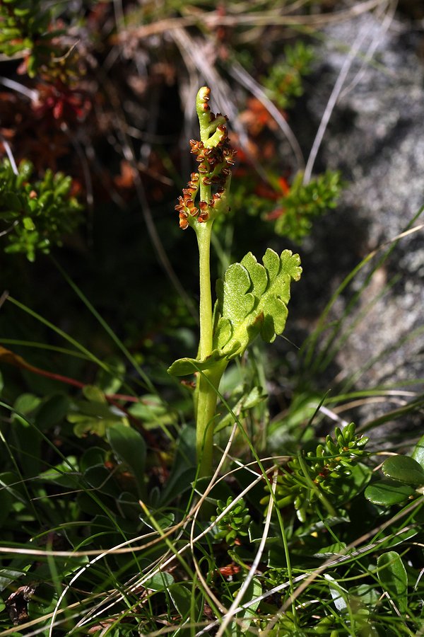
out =
<path fill-rule="evenodd" d="M 5 252 L 24 253 L 35 260 L 61 245 L 65 234 L 81 222 L 82 206 L 71 196 L 72 180 L 47 170 L 42 180 L 31 182 L 33 165 L 21 161 L 18 174 L 10 161 L 0 165 L 0 222 L 8 236 Z"/>

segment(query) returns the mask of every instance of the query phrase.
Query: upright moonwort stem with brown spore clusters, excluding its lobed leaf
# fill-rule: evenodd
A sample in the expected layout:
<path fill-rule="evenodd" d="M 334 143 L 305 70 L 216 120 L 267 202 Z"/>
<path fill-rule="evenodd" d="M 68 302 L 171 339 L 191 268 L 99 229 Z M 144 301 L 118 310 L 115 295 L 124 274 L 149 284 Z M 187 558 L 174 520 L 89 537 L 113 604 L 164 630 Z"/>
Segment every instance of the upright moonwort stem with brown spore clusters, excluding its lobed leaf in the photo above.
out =
<path fill-rule="evenodd" d="M 213 320 L 211 295 L 211 235 L 213 222 L 218 214 L 228 210 L 227 194 L 230 188 L 231 171 L 235 151 L 230 147 L 225 122 L 228 117 L 214 115 L 208 105 L 211 89 L 202 87 L 196 97 L 196 112 L 199 117 L 200 142 L 190 140 L 192 153 L 199 163 L 198 172 L 192 173 L 187 188 L 182 191 L 178 205 L 179 226 L 192 226 L 199 246 L 200 280 L 200 338 L 199 359 L 211 355 L 213 349 Z M 199 203 L 195 205 L 196 196 Z M 201 474 L 208 475 L 212 469 L 213 418 L 216 411 L 216 390 L 226 364 L 206 370 L 196 385 L 196 451 L 201 458 Z"/>

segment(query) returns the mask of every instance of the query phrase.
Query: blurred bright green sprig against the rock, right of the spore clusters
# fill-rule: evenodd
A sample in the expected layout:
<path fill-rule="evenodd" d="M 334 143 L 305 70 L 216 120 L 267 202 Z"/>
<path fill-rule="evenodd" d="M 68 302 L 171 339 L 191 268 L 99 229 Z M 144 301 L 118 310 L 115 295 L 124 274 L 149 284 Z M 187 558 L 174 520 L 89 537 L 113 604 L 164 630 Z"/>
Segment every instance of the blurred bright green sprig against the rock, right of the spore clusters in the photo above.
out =
<path fill-rule="evenodd" d="M 278 207 L 269 215 L 269 219 L 276 220 L 276 233 L 295 242 L 310 234 L 315 218 L 336 207 L 342 187 L 337 171 L 326 171 L 307 184 L 302 179 L 299 173 L 287 195 L 278 199 Z"/>

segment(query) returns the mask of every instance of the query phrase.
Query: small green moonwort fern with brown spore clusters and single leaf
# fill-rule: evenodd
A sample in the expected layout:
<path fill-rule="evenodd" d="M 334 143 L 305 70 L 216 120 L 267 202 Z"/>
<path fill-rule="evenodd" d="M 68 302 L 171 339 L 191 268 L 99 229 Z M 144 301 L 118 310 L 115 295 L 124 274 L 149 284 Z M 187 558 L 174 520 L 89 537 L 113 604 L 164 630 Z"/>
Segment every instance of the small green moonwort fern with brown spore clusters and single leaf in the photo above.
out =
<path fill-rule="evenodd" d="M 235 151 L 230 147 L 227 117 L 214 115 L 208 105 L 211 89 L 200 88 L 196 97 L 200 140 L 191 140 L 199 163 L 176 210 L 179 226 L 192 227 L 199 247 L 200 306 L 199 350 L 196 358 L 175 361 L 170 374 L 198 372 L 195 391 L 196 450 L 199 474 L 208 476 L 213 466 L 213 421 L 220 379 L 230 362 L 240 357 L 257 335 L 267 343 L 283 332 L 290 299 L 290 283 L 300 278 L 300 258 L 289 250 L 281 255 L 270 248 L 262 264 L 252 253 L 230 265 L 216 286 L 213 309 L 210 250 L 213 222 L 228 211 L 228 192 Z M 196 199 L 198 198 L 198 202 Z"/>

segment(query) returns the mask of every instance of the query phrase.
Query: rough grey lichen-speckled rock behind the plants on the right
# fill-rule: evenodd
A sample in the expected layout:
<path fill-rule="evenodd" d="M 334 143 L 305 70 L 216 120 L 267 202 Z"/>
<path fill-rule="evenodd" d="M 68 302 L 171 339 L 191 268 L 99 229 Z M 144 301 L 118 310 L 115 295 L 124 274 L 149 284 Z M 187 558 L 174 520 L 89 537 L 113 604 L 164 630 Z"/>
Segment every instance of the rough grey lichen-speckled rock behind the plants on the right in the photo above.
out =
<path fill-rule="evenodd" d="M 334 290 L 343 278 L 335 279 L 333 272 L 347 274 L 367 253 L 394 239 L 424 204 L 424 64 L 418 56 L 423 33 L 414 33 L 399 17 L 389 21 L 369 13 L 331 25 L 325 33 L 307 88 L 314 130 L 350 47 L 360 46 L 317 158 L 317 171 L 341 170 L 348 187 L 337 211 L 317 223 L 313 239 L 300 251 L 305 313 L 311 298 L 317 302 L 323 281 L 329 284 L 328 299 L 328 287 Z M 372 59 L 367 59 L 370 51 Z M 413 225 L 423 222 L 424 215 Z M 408 381 L 424 378 L 423 234 L 401 239 L 360 294 L 352 319 L 364 316 L 338 352 L 335 362 L 343 370 L 338 380 L 358 374 L 358 389 L 389 384 L 404 386 L 405 392 L 420 389 Z M 316 274 L 309 277 L 308 271 Z M 338 300 L 337 314 L 364 280 L 364 272 L 356 277 L 350 292 Z M 391 408 L 408 399 L 406 393 L 394 397 Z M 379 408 L 366 411 L 365 418 L 375 417 Z"/>

